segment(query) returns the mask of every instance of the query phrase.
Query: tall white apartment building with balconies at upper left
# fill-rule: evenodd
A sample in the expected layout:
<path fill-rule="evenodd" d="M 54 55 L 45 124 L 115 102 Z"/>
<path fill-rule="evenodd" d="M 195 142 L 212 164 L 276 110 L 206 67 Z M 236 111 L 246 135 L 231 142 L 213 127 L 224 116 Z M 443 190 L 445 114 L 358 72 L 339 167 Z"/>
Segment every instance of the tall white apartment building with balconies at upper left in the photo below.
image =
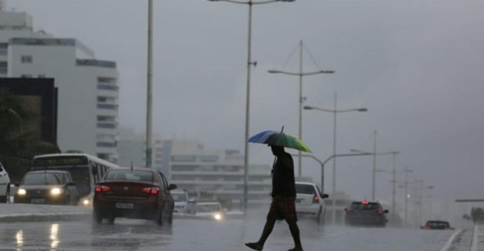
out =
<path fill-rule="evenodd" d="M 58 88 L 57 143 L 116 162 L 118 70 L 73 38 L 34 31 L 28 13 L 0 0 L 0 77 L 50 77 Z M 3 7 L 2 7 L 3 6 Z"/>

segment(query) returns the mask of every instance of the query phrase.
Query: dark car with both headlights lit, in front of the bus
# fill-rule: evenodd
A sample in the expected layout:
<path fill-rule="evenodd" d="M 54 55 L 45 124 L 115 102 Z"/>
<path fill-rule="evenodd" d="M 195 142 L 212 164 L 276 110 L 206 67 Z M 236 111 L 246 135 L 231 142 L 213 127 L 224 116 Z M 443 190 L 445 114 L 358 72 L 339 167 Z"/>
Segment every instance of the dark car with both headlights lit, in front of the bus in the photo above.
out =
<path fill-rule="evenodd" d="M 24 175 L 14 195 L 14 203 L 77 205 L 76 183 L 67 171 L 31 171 Z"/>

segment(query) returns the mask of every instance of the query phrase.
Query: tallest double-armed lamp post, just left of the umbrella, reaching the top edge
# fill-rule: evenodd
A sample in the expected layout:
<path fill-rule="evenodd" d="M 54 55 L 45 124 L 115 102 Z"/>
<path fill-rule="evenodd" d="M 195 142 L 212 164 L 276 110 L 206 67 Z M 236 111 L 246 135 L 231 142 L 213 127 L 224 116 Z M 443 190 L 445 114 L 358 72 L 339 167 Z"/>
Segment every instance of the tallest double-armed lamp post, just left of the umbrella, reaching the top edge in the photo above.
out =
<path fill-rule="evenodd" d="M 252 66 L 257 63 L 252 62 L 252 6 L 266 3 L 276 3 L 276 2 L 293 2 L 296 0 L 266 0 L 266 1 L 235 1 L 235 0 L 208 0 L 208 1 L 225 1 L 228 3 L 237 3 L 247 5 L 249 8 L 249 18 L 248 18 L 248 43 L 247 43 L 247 91 L 245 94 L 245 138 L 244 138 L 244 158 L 243 158 L 243 211 L 247 208 L 248 201 L 248 162 L 249 162 L 249 119 L 250 119 L 250 70 Z"/>

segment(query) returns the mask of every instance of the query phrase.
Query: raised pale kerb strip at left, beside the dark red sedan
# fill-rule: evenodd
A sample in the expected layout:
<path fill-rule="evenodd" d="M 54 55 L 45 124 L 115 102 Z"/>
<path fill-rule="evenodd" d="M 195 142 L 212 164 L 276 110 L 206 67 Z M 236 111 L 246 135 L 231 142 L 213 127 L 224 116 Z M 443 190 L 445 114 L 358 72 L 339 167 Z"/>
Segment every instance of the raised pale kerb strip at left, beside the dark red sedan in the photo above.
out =
<path fill-rule="evenodd" d="M 91 214 L 92 209 L 81 206 L 0 204 L 0 222 L 80 220 Z"/>

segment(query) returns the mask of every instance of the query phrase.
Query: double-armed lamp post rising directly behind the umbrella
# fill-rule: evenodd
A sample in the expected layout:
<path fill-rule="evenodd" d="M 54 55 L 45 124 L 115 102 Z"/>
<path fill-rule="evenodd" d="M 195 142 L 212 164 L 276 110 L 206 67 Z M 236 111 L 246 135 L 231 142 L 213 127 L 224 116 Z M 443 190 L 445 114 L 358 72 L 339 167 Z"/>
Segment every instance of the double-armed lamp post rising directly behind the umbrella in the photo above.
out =
<path fill-rule="evenodd" d="M 302 139 L 302 104 L 304 102 L 304 98 L 302 96 L 302 78 L 304 76 L 310 75 L 318 75 L 318 74 L 332 74 L 334 70 L 318 70 L 315 72 L 303 72 L 303 42 L 302 40 L 299 41 L 299 73 L 290 73 L 283 70 L 268 70 L 269 73 L 275 74 L 285 74 L 285 75 L 292 75 L 299 77 L 299 139 Z M 298 178 L 301 178 L 301 151 L 299 151 L 299 158 L 297 160 L 298 166 Z"/>

